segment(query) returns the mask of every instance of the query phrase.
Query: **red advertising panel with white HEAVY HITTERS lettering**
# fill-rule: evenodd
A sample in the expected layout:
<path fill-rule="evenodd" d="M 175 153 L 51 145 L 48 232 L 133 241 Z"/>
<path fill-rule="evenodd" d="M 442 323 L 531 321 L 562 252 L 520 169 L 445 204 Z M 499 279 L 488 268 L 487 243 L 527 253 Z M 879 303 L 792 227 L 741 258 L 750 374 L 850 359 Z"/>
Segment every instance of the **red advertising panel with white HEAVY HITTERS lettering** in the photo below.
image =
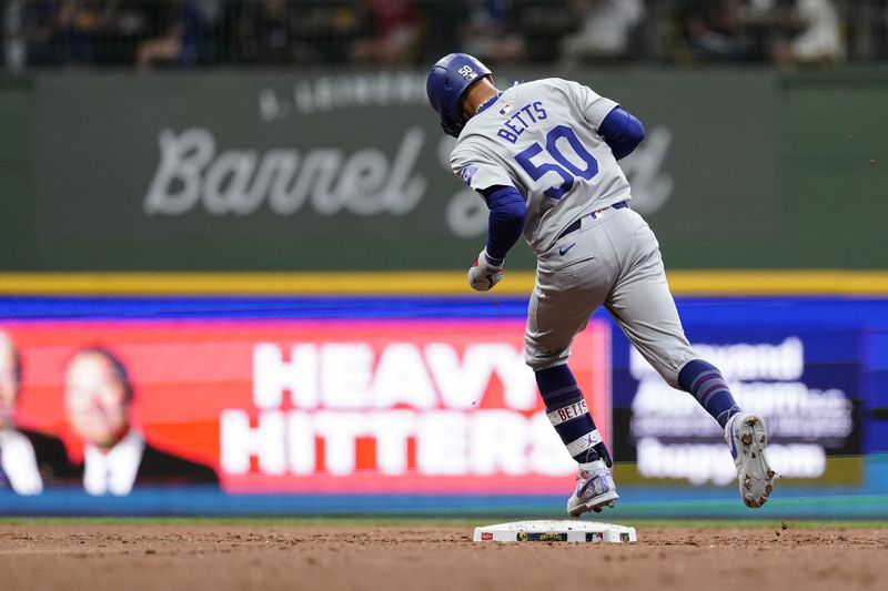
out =
<path fill-rule="evenodd" d="M 231 492 L 565 492 L 576 469 L 524 364 L 518 320 L 2 328 L 22 366 L 18 424 L 60 437 L 75 459 L 65 379 L 78 351 L 98 346 L 125 370 L 144 440 L 211 466 Z M 571 363 L 605 441 L 607 332 L 593 322 Z"/>

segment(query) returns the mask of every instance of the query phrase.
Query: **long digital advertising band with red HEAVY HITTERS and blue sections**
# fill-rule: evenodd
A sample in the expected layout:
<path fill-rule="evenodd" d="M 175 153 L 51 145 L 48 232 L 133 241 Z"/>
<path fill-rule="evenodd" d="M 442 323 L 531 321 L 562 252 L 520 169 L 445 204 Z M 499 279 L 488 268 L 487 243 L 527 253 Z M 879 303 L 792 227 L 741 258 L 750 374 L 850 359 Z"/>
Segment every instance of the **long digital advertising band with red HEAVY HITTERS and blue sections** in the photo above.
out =
<path fill-rule="evenodd" d="M 22 495 L 57 483 L 137 490 L 140 475 L 102 483 L 84 470 L 91 446 L 124 441 L 123 457 L 157 451 L 142 475 L 154 485 L 564 496 L 574 466 L 524 365 L 525 302 L 323 302 L 2 303 L 6 483 Z M 882 326 L 884 305 L 684 299 L 679 309 L 738 403 L 767 421 L 784 483 L 866 485 L 866 455 L 885 449 L 874 410 L 885 346 L 860 323 Z M 93 319 L 74 319 L 84 313 Z M 605 315 L 577 339 L 572 365 L 624 489 L 733 486 L 718 427 Z"/>

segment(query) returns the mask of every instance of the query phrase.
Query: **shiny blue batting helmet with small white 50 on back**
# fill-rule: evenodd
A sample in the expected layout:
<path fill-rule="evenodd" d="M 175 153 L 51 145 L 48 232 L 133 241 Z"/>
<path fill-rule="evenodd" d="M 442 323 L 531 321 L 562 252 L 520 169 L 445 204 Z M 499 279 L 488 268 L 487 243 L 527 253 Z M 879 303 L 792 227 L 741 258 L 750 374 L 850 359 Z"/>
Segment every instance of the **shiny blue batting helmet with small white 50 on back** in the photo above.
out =
<path fill-rule="evenodd" d="M 444 133 L 460 136 L 465 125 L 460 100 L 468 86 L 491 75 L 490 69 L 467 53 L 450 53 L 441 58 L 425 81 L 428 102 L 441 115 Z"/>

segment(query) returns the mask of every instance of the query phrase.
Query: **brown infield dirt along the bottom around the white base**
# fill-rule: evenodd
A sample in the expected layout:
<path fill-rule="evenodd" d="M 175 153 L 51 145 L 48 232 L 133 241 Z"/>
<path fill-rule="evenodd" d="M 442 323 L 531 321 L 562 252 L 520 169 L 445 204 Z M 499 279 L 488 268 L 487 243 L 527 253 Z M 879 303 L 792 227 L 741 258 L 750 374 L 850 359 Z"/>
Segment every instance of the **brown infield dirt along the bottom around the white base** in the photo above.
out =
<path fill-rule="evenodd" d="M 470 526 L 0 523 L 0 589 L 885 589 L 888 531 L 638 528 L 474 543 Z"/>

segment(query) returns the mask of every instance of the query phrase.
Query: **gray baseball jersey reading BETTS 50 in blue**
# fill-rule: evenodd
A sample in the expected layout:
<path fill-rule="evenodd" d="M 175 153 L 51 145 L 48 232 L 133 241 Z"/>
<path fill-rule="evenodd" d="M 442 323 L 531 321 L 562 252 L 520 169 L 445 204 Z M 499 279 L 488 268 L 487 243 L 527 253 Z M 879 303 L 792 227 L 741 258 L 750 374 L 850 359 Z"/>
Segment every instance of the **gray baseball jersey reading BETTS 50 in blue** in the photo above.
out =
<path fill-rule="evenodd" d="M 524 236 L 538 254 L 584 214 L 632 198 L 626 175 L 596 133 L 616 106 L 556 78 L 512 86 L 468 120 L 451 165 L 471 188 L 513 185 L 524 195 Z"/>

